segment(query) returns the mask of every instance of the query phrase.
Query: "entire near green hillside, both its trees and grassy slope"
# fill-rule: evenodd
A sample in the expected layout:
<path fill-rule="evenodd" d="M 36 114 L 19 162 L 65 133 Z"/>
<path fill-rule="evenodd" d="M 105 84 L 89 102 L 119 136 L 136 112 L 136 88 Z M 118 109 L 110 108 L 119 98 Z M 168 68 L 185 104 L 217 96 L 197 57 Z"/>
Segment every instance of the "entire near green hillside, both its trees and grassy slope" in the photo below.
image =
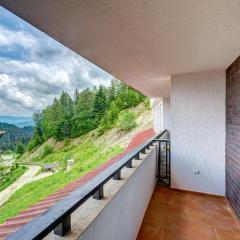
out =
<path fill-rule="evenodd" d="M 117 156 L 151 126 L 151 110 L 148 98 L 113 80 L 109 87 L 76 90 L 74 98 L 62 92 L 33 119 L 33 138 L 18 162 L 41 166 L 38 176 L 47 165 L 54 167 L 9 198 L 0 208 L 0 223 Z"/>

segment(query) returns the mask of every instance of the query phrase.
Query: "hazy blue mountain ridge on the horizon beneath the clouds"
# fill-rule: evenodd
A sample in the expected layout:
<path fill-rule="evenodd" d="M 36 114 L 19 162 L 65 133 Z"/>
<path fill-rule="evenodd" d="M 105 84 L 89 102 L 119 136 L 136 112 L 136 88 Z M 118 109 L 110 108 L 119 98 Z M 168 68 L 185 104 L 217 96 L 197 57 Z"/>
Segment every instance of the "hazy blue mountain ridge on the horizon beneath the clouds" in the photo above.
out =
<path fill-rule="evenodd" d="M 34 126 L 32 117 L 1 116 L 0 122 L 14 124 L 17 127 Z"/>

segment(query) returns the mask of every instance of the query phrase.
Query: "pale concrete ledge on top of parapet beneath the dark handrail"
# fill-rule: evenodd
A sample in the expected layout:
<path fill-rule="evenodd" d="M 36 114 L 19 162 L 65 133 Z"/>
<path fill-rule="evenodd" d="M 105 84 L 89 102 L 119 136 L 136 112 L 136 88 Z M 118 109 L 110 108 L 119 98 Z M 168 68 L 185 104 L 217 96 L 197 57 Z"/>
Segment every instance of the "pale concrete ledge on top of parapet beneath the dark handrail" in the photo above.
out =
<path fill-rule="evenodd" d="M 154 144 L 155 145 L 155 144 Z M 144 167 L 144 163 L 146 163 L 146 160 L 149 159 L 148 156 L 153 152 L 155 152 L 155 146 L 150 147 L 149 150 L 146 150 L 145 154 L 140 155 L 141 160 L 133 160 L 132 168 L 124 168 L 121 171 L 121 180 L 113 180 L 111 179 L 108 183 L 104 185 L 104 198 L 101 200 L 96 200 L 93 198 L 90 198 L 87 200 L 83 205 L 81 205 L 71 216 L 71 222 L 72 222 L 72 230 L 64 237 L 64 239 L 67 240 L 76 240 L 76 239 L 82 239 L 82 235 L 85 234 L 87 230 L 89 230 L 94 224 L 95 221 L 98 219 L 98 217 L 101 215 L 101 213 L 108 207 L 108 205 L 111 203 L 114 198 L 117 197 L 118 194 L 121 194 L 121 189 L 126 185 L 126 183 L 134 176 L 136 173 L 141 169 L 141 166 Z M 155 157 L 155 156 L 154 156 Z M 155 176 L 154 176 L 155 178 Z M 130 193 L 129 193 L 130 194 Z M 151 195 L 149 196 L 149 200 L 151 199 Z M 148 203 L 146 205 L 146 208 L 148 206 Z M 139 228 L 141 226 L 141 222 L 143 219 L 143 216 L 145 214 L 145 210 L 142 215 L 142 218 L 139 222 Z M 112 213 L 114 214 L 114 212 Z M 108 220 L 106 220 L 108 221 Z M 139 230 L 139 229 L 138 229 Z M 136 232 L 137 236 L 138 232 Z M 62 239 L 62 237 L 59 237 L 57 235 L 54 235 L 53 232 L 51 232 L 48 236 L 46 236 L 44 239 Z M 84 239 L 84 238 L 83 238 Z"/>

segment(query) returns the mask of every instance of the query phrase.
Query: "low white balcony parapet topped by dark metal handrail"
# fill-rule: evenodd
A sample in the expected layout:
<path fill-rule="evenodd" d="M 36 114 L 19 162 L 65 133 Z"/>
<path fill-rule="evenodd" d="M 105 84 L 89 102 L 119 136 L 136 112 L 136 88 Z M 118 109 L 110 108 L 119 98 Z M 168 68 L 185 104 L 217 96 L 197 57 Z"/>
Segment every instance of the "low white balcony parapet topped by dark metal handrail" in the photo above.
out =
<path fill-rule="evenodd" d="M 136 238 L 156 185 L 158 142 L 164 135 L 166 131 L 137 146 L 8 239 Z"/>

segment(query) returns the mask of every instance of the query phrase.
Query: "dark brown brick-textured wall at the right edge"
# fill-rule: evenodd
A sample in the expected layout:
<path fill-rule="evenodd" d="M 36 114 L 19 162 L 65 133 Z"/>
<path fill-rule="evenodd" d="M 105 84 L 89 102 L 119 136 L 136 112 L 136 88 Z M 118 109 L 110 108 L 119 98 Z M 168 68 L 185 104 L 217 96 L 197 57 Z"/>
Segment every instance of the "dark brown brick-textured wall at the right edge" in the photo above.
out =
<path fill-rule="evenodd" d="M 226 78 L 226 196 L 240 217 L 240 57 Z"/>

